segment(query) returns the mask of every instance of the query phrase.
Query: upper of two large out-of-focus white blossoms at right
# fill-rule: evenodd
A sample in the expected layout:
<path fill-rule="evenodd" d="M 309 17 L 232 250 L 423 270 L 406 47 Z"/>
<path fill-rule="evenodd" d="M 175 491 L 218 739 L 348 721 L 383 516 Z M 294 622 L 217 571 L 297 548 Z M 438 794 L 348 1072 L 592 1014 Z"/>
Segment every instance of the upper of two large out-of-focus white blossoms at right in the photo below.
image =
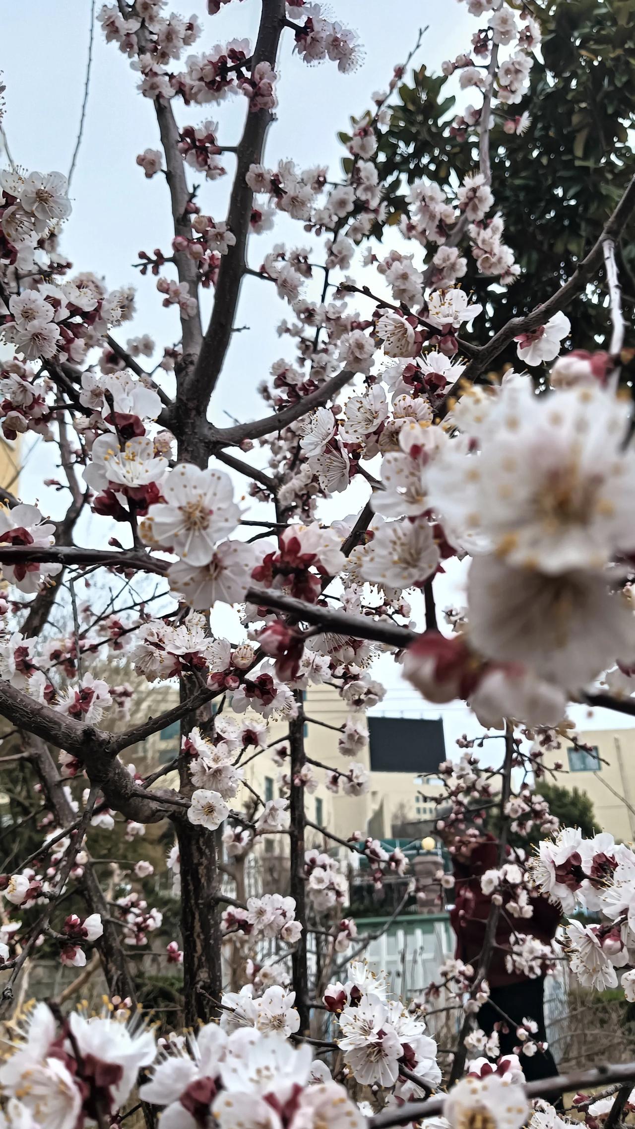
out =
<path fill-rule="evenodd" d="M 537 397 L 505 386 L 487 411 L 480 452 L 448 443 L 430 466 L 430 502 L 453 528 L 478 528 L 510 564 L 600 569 L 635 544 L 628 415 L 600 388 Z"/>

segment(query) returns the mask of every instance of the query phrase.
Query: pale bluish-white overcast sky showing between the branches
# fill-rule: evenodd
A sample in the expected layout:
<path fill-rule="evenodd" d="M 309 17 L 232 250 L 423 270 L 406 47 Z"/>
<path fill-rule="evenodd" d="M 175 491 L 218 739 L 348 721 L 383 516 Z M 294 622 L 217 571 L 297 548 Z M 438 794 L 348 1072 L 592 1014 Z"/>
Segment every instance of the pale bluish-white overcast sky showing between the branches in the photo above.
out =
<path fill-rule="evenodd" d="M 99 7 L 97 0 L 97 10 Z M 254 42 L 259 14 L 257 0 L 232 0 L 215 17 L 208 17 L 205 7 L 204 0 L 186 0 L 182 12 L 188 16 L 194 9 L 204 24 L 205 32 L 193 51 L 232 37 L 245 36 Z M 327 62 L 308 68 L 292 53 L 292 33 L 283 35 L 276 68 L 277 121 L 267 137 L 265 161 L 272 165 L 291 157 L 300 167 L 328 164 L 333 178 L 337 178 L 344 150 L 336 132 L 347 129 L 351 114 L 359 115 L 370 105 L 373 90 L 386 88 L 394 64 L 405 60 L 416 41 L 418 27 L 429 25 L 429 30 L 415 62 L 417 65 L 425 62 L 429 70 L 439 71 L 443 59 L 465 50 L 474 21 L 466 6 L 456 0 L 393 0 L 390 5 L 386 0 L 337 0 L 333 8 L 334 18 L 360 32 L 363 62 L 353 75 L 339 75 L 336 65 Z M 0 70 L 7 86 L 3 124 L 14 160 L 28 170 L 68 173 L 83 94 L 89 19 L 90 0 L 54 5 L 50 0 L 24 0 L 19 5 L 6 0 L 2 6 Z M 115 44 L 105 43 L 97 25 L 83 141 L 70 193 L 73 211 L 61 246 L 77 270 L 105 275 L 111 288 L 136 287 L 136 317 L 115 334 L 122 342 L 129 336 L 150 333 L 162 347 L 178 340 L 177 315 L 174 308 L 162 308 L 155 279 L 151 275 L 142 279 L 131 265 L 140 250 L 152 252 L 160 246 L 168 252 L 171 238 L 165 178 L 156 176 L 147 181 L 135 165 L 136 154 L 148 147 L 160 147 L 152 104 L 135 87 L 136 75 L 130 69 L 127 58 Z M 180 124 L 197 125 L 206 119 L 219 121 L 220 143 L 236 145 L 245 112 L 242 98 L 203 107 L 185 107 L 175 99 L 174 107 Z M 226 155 L 223 163 L 229 175 L 213 185 L 203 182 L 199 195 L 203 210 L 215 218 L 226 213 L 233 170 L 230 155 Z M 305 236 L 300 224 L 281 222 L 272 236 L 250 240 L 250 265 L 259 265 L 275 239 L 285 239 L 291 245 L 316 245 L 312 236 Z M 209 307 L 210 295 L 204 292 L 204 315 L 209 315 Z M 249 329 L 233 336 L 213 401 L 211 414 L 217 423 L 229 422 L 226 412 L 240 420 L 263 414 L 257 385 L 267 377 L 274 360 L 281 356 L 293 358 L 290 339 L 280 340 L 275 333 L 275 325 L 288 313 L 273 287 L 245 279 L 237 324 Z M 170 391 L 169 379 L 166 387 Z M 55 456 L 53 445 L 38 443 L 28 457 L 20 483 L 21 496 L 28 501 L 38 499 L 42 509 L 53 517 L 60 516 L 65 499 L 44 488 L 42 480 L 56 476 Z M 257 454 L 249 457 L 254 462 L 258 458 Z M 245 480 L 237 479 L 237 485 L 242 490 Z M 346 496 L 346 508 L 342 508 L 343 498 L 338 496 L 332 516 L 359 511 L 367 493 L 365 483 L 355 483 Z M 254 508 L 250 516 L 261 514 Z M 78 537 L 85 544 L 102 543 L 107 536 L 105 528 L 103 518 L 88 517 Z M 117 528 L 117 534 L 121 533 Z M 440 609 L 462 602 L 464 576 L 465 569 L 455 562 L 448 577 L 435 581 Z M 378 674 L 388 686 L 388 695 L 378 711 L 439 716 L 438 708 L 425 708 L 416 691 L 399 679 L 391 660 L 382 662 Z M 462 732 L 470 735 L 479 732 L 470 712 L 460 703 L 441 712 L 450 753 Z M 577 709 L 574 717 L 581 728 L 629 724 L 627 718 L 619 719 L 606 710 L 596 710 L 590 716 L 588 710 Z"/>

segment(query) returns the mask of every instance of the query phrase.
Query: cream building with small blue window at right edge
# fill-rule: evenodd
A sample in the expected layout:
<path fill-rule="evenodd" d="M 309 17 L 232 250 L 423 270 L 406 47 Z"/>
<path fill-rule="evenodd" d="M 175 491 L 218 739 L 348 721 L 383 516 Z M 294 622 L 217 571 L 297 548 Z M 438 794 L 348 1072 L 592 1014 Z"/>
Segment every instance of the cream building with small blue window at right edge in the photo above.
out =
<path fill-rule="evenodd" d="M 545 764 L 561 762 L 554 782 L 563 788 L 577 788 L 593 803 L 598 831 L 610 831 L 616 840 L 635 839 L 635 728 L 591 729 L 579 734 L 579 744 L 590 751 L 563 742 L 554 752 L 545 753 Z"/>

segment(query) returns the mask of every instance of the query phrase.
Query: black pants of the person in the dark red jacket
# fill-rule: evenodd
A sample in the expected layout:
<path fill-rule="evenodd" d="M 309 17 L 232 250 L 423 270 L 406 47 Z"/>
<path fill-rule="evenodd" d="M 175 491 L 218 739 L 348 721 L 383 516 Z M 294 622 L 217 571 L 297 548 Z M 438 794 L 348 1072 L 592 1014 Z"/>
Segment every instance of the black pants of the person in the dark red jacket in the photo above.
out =
<path fill-rule="evenodd" d="M 496 1010 L 496 1005 L 501 1010 Z M 505 1015 L 512 1021 L 506 1023 Z M 505 984 L 501 988 L 492 988 L 490 1001 L 484 1004 L 477 1015 L 477 1023 L 485 1034 L 492 1034 L 495 1023 L 501 1023 L 499 1027 L 499 1042 L 501 1054 L 513 1054 L 514 1047 L 520 1040 L 515 1029 L 523 1019 L 533 1019 L 538 1024 L 538 1031 L 530 1038 L 536 1042 L 546 1042 L 545 1031 L 545 980 L 520 980 L 515 984 Z M 509 1030 L 505 1031 L 504 1027 Z M 553 1078 L 558 1074 L 554 1056 L 547 1048 L 546 1051 L 536 1051 L 536 1054 L 519 1054 L 520 1065 L 528 1082 L 537 1082 L 540 1078 Z M 552 1099 L 553 1101 L 553 1099 Z M 554 1103 L 555 1104 L 555 1103 Z"/>

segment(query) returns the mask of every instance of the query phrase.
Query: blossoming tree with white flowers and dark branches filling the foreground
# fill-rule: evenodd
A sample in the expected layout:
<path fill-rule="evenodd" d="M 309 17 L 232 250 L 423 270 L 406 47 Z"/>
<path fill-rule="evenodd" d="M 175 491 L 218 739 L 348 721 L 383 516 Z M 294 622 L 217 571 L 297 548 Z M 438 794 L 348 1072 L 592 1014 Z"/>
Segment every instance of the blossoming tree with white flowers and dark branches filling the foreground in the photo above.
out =
<path fill-rule="evenodd" d="M 158 126 L 160 148 L 147 148 L 138 165 L 148 178 L 165 176 L 174 237 L 142 252 L 139 266 L 142 285 L 155 278 L 162 305 L 178 309 L 176 345 L 157 347 L 148 334 L 124 344 L 120 327 L 133 316 L 133 292 L 107 290 L 97 272 L 71 274 L 60 250 L 71 211 L 63 175 L 10 166 L 0 176 L 1 334 L 14 351 L 1 375 L 2 430 L 8 439 L 34 432 L 59 445 L 65 478 L 58 485 L 70 499 L 52 522 L 5 490 L 0 515 L 0 714 L 37 781 L 43 831 L 35 852 L 1 879 L 3 902 L 20 917 L 2 918 L 0 1007 L 9 1014 L 42 938 L 73 966 L 95 945 L 114 1001 L 94 1017 L 64 1016 L 44 1003 L 30 1010 L 0 1067 L 2 1117 L 16 1127 L 107 1126 L 141 1083 L 147 1121 L 158 1106 L 164 1129 L 354 1129 L 369 1117 L 381 1129 L 441 1112 L 455 1129 L 519 1129 L 530 1117 L 538 1129 L 557 1126 L 558 1115 L 545 1104 L 532 1112 L 528 1097 L 612 1082 L 620 1085 L 608 1105 L 605 1097 L 601 1109 L 587 1103 L 610 1129 L 635 1064 L 524 1087 L 523 1061 L 543 1050 L 531 1016 L 517 1032 L 519 1053 L 501 1057 L 496 1032 L 485 1036 L 478 1013 L 490 997 L 502 917 L 511 922 L 508 969 L 538 979 L 553 968 L 553 948 L 527 926 L 537 895 L 566 916 L 580 908 L 597 914 L 592 925 L 564 921 L 561 955 L 568 953 L 582 983 L 615 987 L 616 969 L 635 963 L 635 855 L 606 832 L 584 839 L 558 830 L 531 786 L 545 773 L 545 750 L 575 739 L 568 701 L 635 712 L 635 452 L 630 399 L 619 387 L 625 320 L 616 257 L 635 212 L 635 181 L 564 282 L 555 279 L 540 305 L 479 334 L 483 306 L 460 286 L 468 263 L 492 308 L 520 274 L 491 187 L 491 132 L 497 121 L 522 135 L 529 113 L 540 113 L 526 97 L 540 52 L 539 12 L 468 0 L 471 46 L 444 70 L 477 102 L 466 104 L 459 126 L 447 124 L 460 128 L 473 167 L 446 187 L 412 183 L 398 246 L 383 254 L 378 141 L 404 68 L 354 122 L 341 181 L 320 165 L 272 168 L 265 137 L 284 95 L 279 58 L 293 50 L 346 72 L 356 37 L 317 3 L 263 0 L 253 46 L 233 40 L 210 50 L 213 18 L 227 2 L 208 0 L 204 26 L 168 14 L 165 0 L 118 0 L 98 14 L 148 99 L 149 137 L 152 116 Z M 199 40 L 202 50 L 189 53 Z M 229 97 L 245 98 L 237 143 L 201 108 Z M 205 181 L 221 177 L 230 185 L 227 211 L 213 218 Z M 257 235 L 280 212 L 298 221 L 302 243 L 262 256 Z M 291 356 L 262 384 L 265 414 L 221 427 L 213 393 L 246 274 L 280 297 Z M 598 286 L 608 295 L 603 348 L 581 350 L 575 340 L 567 348 L 567 306 L 597 303 Z M 206 324 L 201 288 L 214 295 Z M 503 370 L 512 343 L 517 370 Z M 253 509 L 236 500 L 238 476 L 249 482 Z M 349 516 L 353 479 L 364 481 L 368 501 Z M 339 497 L 341 517 L 327 524 L 321 504 Z M 88 510 L 102 519 L 91 530 L 104 532 L 85 546 Z M 253 526 L 264 540 L 249 537 Z M 441 630 L 435 577 L 451 558 L 465 562 L 467 606 L 448 611 Z M 96 572 L 121 587 L 102 607 L 92 598 L 78 607 L 76 588 Z M 158 583 L 151 596 L 148 576 Z M 103 590 L 95 584 L 97 602 Z M 56 602 L 72 616 L 63 639 L 47 628 Z M 211 632 L 219 603 L 241 609 L 241 639 Z M 147 697 L 131 703 L 126 684 L 98 676 L 102 646 L 115 657 L 127 648 L 138 676 L 152 685 L 178 680 L 179 703 L 158 715 Z M 372 674 L 380 651 L 394 655 L 429 701 L 468 702 L 504 750 L 497 773 L 480 767 L 467 741 L 460 763 L 441 765 L 450 800 L 442 830 L 466 831 L 469 814 L 466 835 L 474 838 L 495 806 L 501 831 L 496 865 L 479 879 L 488 910 L 478 961 L 448 961 L 442 982 L 416 1003 L 389 998 L 383 978 L 356 961 L 364 939 L 343 917 L 342 869 L 328 852 L 305 849 L 305 793 L 316 771 L 347 795 L 368 787 L 354 758 L 368 736 L 364 712 L 383 693 Z M 311 762 L 305 751 L 303 692 L 316 683 L 333 686 L 350 710 L 342 769 Z M 215 712 L 219 702 L 227 708 Z M 131 704 L 135 724 L 113 726 L 113 711 Z M 279 750 L 288 798 L 265 800 L 246 794 L 244 765 L 248 749 L 257 754 L 267 744 L 272 717 L 289 724 Z M 175 721 L 179 786 L 166 788 L 168 770 L 142 777 L 125 754 Z M 515 789 L 514 768 L 523 770 Z M 130 839 L 161 821 L 175 832 L 168 867 L 180 943 L 166 937 L 166 959 L 183 963 L 185 1019 L 199 1029 L 187 1040 L 164 1038 L 158 1057 L 155 1033 L 130 1010 L 136 992 L 126 943 L 160 929 L 160 913 L 134 891 L 113 909 L 91 857 L 92 829 L 112 828 L 115 815 Z M 510 831 L 536 825 L 544 834 L 536 857 L 506 849 Z M 323 831 L 365 856 L 378 885 L 406 867 L 399 851 L 389 855 L 360 829 L 346 840 Z M 246 904 L 230 898 L 222 854 L 240 858 L 281 833 L 289 891 Z M 151 872 L 141 854 L 139 882 Z M 407 894 L 416 892 L 413 879 Z M 76 893 L 81 916 L 63 904 Z M 327 928 L 317 927 L 324 920 Z M 326 988 L 308 960 L 309 930 L 332 977 Z M 277 946 L 266 968 L 257 962 L 263 939 Z M 238 940 L 247 940 L 242 987 L 227 991 L 223 944 Z M 619 974 L 633 999 L 635 970 Z M 453 1048 L 442 1053 L 425 1025 L 441 995 L 461 1016 Z M 311 1040 L 311 1030 L 328 1038 Z M 447 1097 L 430 1096 L 446 1084 Z"/>

